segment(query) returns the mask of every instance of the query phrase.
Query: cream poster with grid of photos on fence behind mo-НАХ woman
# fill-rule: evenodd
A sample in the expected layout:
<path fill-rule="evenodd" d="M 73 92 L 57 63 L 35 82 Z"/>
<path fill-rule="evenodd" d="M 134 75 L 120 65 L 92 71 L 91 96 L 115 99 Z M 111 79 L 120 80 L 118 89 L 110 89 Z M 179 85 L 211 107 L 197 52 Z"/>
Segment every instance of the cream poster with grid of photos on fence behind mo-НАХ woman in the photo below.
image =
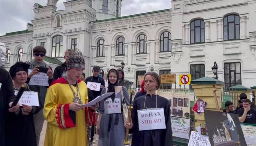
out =
<path fill-rule="evenodd" d="M 158 94 L 168 99 L 172 116 L 190 118 L 190 90 L 159 89 Z"/>

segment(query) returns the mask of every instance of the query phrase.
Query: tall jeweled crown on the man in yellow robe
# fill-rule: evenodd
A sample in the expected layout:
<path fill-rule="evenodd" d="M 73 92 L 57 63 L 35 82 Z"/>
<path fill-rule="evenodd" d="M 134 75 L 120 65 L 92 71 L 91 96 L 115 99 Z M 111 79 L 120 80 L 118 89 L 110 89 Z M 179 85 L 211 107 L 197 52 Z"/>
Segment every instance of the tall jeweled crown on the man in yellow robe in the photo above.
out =
<path fill-rule="evenodd" d="M 71 50 L 68 55 L 67 68 L 83 68 L 85 69 L 85 60 L 79 49 Z"/>

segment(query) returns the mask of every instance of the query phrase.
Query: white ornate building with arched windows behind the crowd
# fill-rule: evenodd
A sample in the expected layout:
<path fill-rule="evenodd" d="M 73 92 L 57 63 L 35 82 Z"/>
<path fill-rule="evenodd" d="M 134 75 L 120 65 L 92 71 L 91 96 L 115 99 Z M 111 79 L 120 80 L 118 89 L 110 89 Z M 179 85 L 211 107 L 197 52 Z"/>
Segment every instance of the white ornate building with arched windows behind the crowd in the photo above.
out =
<path fill-rule="evenodd" d="M 225 87 L 256 84 L 256 0 L 170 0 L 172 9 L 124 17 L 121 0 L 67 0 L 62 11 L 57 1 L 35 4 L 27 30 L 0 36 L 7 68 L 31 60 L 32 48 L 43 45 L 53 68 L 66 49 L 79 48 L 86 76 L 94 65 L 107 72 L 123 61 L 130 81 L 146 71 L 171 71 L 178 82 L 181 74 L 214 76 L 216 61 Z"/>

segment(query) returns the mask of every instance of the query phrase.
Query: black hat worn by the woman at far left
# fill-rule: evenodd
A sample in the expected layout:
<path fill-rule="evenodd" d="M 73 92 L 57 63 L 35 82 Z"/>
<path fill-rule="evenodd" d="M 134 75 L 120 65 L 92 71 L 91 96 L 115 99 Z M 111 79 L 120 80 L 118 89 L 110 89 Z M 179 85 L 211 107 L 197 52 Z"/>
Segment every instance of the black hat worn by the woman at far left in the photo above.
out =
<path fill-rule="evenodd" d="M 12 79 L 14 79 L 14 77 L 16 76 L 16 72 L 25 71 L 25 72 L 28 73 L 28 68 L 29 67 L 30 67 L 29 64 L 26 64 L 26 63 L 23 63 L 23 62 L 16 62 L 16 64 L 12 65 L 10 67 L 10 70 L 9 70 Z"/>

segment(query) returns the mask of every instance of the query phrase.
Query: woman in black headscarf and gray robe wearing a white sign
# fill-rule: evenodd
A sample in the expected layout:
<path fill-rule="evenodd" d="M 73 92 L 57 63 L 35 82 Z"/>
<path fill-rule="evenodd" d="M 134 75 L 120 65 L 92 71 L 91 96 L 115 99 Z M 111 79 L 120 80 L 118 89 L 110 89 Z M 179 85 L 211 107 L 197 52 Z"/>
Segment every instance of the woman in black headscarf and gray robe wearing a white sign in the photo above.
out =
<path fill-rule="evenodd" d="M 125 86 L 118 86 L 117 70 L 111 69 L 107 75 L 108 87 L 101 94 L 114 92 L 100 102 L 98 118 L 98 146 L 122 146 L 125 138 L 123 102 L 129 105 L 129 94 Z M 122 93 L 123 92 L 123 93 Z"/>

